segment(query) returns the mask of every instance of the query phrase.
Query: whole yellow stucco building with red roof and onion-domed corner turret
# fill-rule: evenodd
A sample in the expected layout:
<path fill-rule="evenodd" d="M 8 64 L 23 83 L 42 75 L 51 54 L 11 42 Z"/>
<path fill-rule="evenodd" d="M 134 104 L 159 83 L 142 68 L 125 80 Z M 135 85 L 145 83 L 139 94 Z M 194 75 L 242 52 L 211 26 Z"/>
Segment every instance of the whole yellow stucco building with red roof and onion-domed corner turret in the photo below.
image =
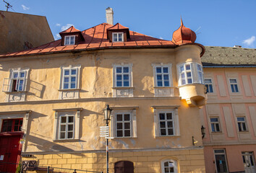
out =
<path fill-rule="evenodd" d="M 0 56 L 0 138 L 22 139 L 16 161 L 21 151 L 37 167 L 105 172 L 109 105 L 109 172 L 205 172 L 195 32 L 182 23 L 167 41 L 102 23 L 60 35 Z"/>

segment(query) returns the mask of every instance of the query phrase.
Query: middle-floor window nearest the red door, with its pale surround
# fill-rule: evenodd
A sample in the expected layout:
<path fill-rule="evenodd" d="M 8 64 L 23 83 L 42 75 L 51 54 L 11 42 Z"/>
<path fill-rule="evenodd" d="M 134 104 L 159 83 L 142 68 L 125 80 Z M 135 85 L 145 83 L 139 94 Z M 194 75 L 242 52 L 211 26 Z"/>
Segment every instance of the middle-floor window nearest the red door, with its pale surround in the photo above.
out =
<path fill-rule="evenodd" d="M 55 111 L 54 140 L 74 140 L 80 134 L 82 108 L 58 109 Z"/>

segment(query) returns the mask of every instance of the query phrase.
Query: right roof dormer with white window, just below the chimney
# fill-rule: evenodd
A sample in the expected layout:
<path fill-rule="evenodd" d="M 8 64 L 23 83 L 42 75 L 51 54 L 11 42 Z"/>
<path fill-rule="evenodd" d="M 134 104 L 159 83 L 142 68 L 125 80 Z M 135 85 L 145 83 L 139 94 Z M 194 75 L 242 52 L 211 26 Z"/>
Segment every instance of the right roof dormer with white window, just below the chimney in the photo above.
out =
<path fill-rule="evenodd" d="M 116 23 L 113 27 L 107 29 L 109 42 L 127 42 L 129 39 L 129 28 Z"/>

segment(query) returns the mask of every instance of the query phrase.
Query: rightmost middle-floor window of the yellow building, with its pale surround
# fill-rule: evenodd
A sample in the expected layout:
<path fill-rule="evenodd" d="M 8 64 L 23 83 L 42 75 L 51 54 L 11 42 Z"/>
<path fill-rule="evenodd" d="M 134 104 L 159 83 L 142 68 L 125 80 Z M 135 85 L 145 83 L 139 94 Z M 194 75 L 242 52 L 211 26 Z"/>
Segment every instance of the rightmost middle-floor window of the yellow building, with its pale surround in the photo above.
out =
<path fill-rule="evenodd" d="M 179 136 L 178 109 L 152 107 L 154 109 L 155 136 Z"/>

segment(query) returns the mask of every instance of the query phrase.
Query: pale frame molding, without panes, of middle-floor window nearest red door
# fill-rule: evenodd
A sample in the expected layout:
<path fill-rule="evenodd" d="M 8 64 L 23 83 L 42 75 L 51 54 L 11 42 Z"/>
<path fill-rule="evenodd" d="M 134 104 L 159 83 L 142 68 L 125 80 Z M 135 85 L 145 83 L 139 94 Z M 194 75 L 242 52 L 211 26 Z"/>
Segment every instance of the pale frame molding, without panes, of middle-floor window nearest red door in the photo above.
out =
<path fill-rule="evenodd" d="M 80 114 L 82 112 L 81 107 L 70 108 L 70 109 L 56 109 L 54 110 L 54 141 L 77 141 L 80 138 Z M 59 128 L 60 128 L 60 117 L 61 115 L 74 115 L 74 138 L 60 138 Z"/>

